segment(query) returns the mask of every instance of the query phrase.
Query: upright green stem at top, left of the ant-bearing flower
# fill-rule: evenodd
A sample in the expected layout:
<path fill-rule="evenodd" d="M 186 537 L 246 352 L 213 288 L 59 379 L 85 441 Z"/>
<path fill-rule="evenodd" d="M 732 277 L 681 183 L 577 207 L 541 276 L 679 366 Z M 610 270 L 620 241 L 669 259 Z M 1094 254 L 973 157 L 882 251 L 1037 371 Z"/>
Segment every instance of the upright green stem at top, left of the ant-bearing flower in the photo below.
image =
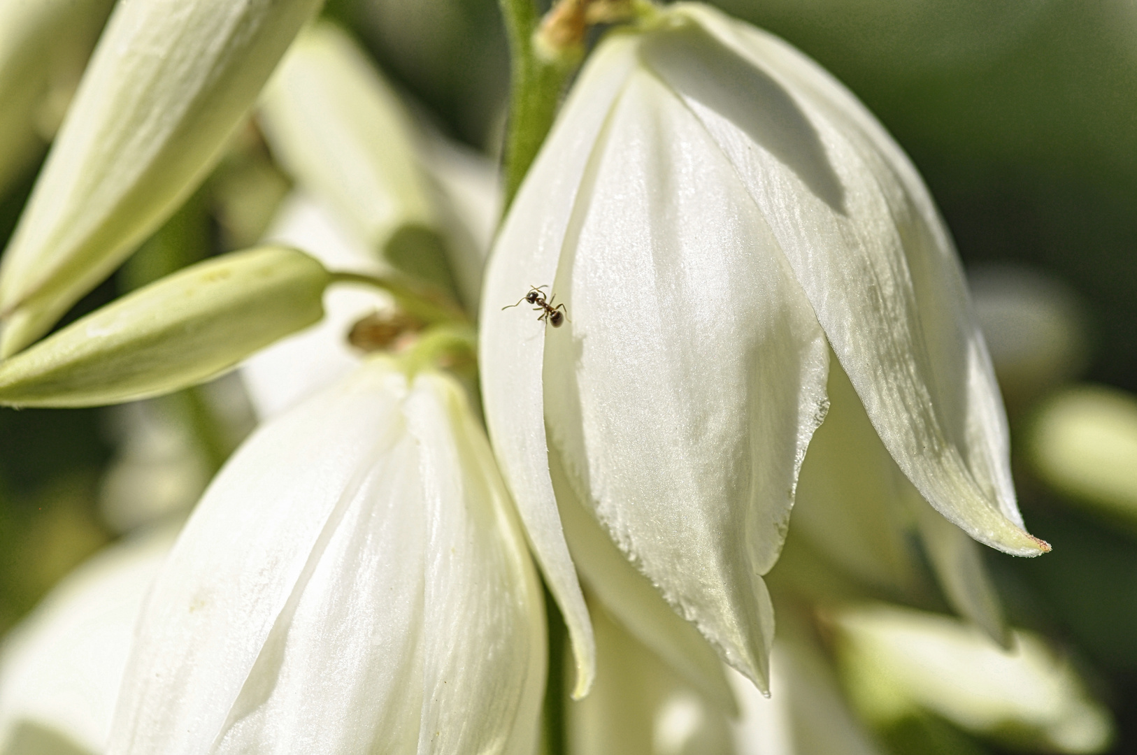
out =
<path fill-rule="evenodd" d="M 503 165 L 503 210 L 507 210 L 553 127 L 561 90 L 576 66 L 542 60 L 534 51 L 533 32 L 539 18 L 533 0 L 498 0 L 498 3 L 509 38 L 511 59 L 509 121 Z"/>

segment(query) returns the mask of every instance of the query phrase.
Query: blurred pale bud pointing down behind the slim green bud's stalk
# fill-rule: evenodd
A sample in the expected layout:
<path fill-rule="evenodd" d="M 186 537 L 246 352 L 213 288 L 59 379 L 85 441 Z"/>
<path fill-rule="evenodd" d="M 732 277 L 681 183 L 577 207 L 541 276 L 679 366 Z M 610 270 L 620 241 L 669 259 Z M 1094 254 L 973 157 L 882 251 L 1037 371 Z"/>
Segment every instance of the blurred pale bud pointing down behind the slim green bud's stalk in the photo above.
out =
<path fill-rule="evenodd" d="M 259 109 L 276 159 L 357 238 L 443 291 L 463 283 L 459 293 L 476 304 L 480 275 L 456 281 L 450 269 L 480 255 L 468 233 L 451 233 L 460 226 L 447 222 L 426 173 L 422 128 L 345 32 L 327 23 L 306 30 Z"/>

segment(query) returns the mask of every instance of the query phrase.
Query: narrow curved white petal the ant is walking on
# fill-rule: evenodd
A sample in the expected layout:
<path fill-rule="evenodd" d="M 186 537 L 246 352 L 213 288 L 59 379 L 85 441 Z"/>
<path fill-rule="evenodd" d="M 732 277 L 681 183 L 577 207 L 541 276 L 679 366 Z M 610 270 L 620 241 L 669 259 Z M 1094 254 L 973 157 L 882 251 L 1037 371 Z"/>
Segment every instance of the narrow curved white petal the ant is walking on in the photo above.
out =
<path fill-rule="evenodd" d="M 632 66 L 631 47 L 631 40 L 605 45 L 581 74 L 506 218 L 482 292 L 479 363 L 485 418 L 525 533 L 568 625 L 576 696 L 591 686 L 596 650 L 549 481 L 541 393 L 543 324 L 524 308 L 501 307 L 523 297 L 529 285 L 553 282 L 578 190 L 594 161 L 592 146 Z"/>

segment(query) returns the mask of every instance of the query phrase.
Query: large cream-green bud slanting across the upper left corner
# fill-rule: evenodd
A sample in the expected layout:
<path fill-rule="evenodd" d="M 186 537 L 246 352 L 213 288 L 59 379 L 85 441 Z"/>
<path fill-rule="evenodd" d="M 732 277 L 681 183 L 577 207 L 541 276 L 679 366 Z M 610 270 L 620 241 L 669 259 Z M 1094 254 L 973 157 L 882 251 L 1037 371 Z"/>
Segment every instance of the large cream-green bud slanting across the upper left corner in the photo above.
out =
<path fill-rule="evenodd" d="M 43 334 L 194 189 L 318 0 L 118 5 L 0 268 L 0 355 Z"/>

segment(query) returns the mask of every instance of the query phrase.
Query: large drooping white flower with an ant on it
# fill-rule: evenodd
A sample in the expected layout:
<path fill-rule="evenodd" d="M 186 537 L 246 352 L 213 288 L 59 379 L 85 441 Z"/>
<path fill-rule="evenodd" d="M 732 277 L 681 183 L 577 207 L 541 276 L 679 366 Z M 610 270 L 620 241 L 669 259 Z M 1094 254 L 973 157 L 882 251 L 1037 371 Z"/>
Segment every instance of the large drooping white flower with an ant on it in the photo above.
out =
<path fill-rule="evenodd" d="M 524 307 L 547 285 L 567 322 Z M 1019 555 L 1005 417 L 958 260 L 915 171 L 786 43 L 696 5 L 613 34 L 513 205 L 483 291 L 487 417 L 573 632 L 588 614 L 549 459 L 664 597 L 760 686 L 830 348 L 896 464 Z"/>

